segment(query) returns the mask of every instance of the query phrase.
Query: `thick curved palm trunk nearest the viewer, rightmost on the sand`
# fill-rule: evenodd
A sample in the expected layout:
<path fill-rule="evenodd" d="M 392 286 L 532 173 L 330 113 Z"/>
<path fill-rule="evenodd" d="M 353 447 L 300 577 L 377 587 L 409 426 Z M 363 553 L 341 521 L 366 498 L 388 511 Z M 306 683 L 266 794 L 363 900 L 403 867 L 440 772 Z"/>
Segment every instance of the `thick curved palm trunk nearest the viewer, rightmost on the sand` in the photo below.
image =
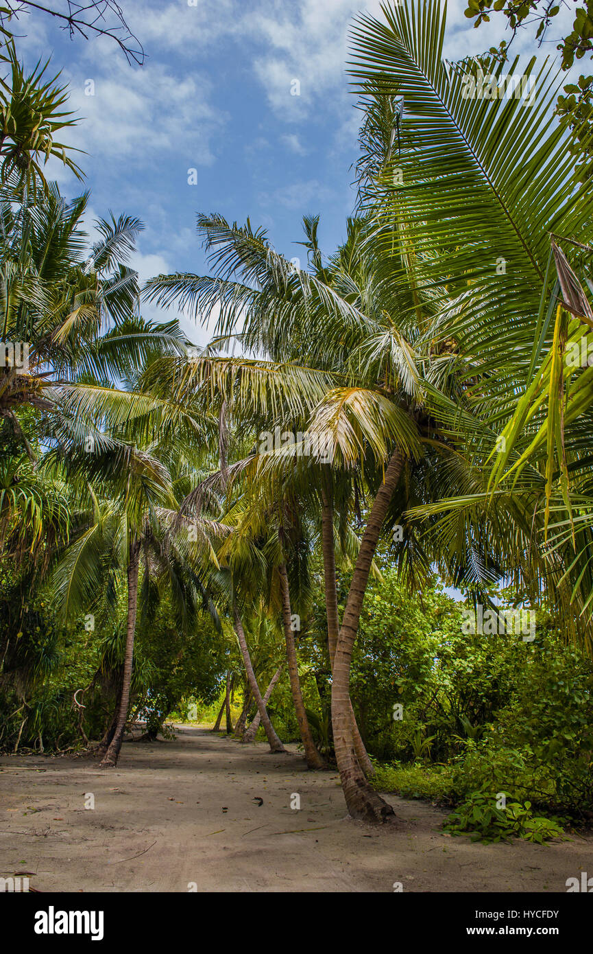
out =
<path fill-rule="evenodd" d="M 378 535 L 391 498 L 398 486 L 402 466 L 403 458 L 396 448 L 385 470 L 383 483 L 378 488 L 362 536 L 346 601 L 346 609 L 337 637 L 334 660 L 332 725 L 339 778 L 341 779 L 344 798 L 346 798 L 350 815 L 355 819 L 365 819 L 367 821 L 385 821 L 388 816 L 394 815 L 394 810 L 383 798 L 380 798 L 377 792 L 373 791 L 358 764 L 352 738 L 350 707 L 348 705 L 350 664 L 371 563 L 377 550 Z"/>

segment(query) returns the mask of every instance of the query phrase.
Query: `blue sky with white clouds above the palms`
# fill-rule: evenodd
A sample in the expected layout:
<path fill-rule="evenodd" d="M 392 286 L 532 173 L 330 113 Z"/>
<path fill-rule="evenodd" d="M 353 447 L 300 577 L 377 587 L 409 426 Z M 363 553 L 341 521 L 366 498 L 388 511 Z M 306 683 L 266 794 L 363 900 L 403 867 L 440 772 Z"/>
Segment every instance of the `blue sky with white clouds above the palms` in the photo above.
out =
<path fill-rule="evenodd" d="M 71 40 L 41 13 L 23 15 L 14 31 L 24 36 L 19 49 L 28 61 L 51 54 L 71 87 L 71 108 L 85 117 L 67 141 L 88 154 L 79 162 L 92 191 L 91 218 L 112 210 L 144 221 L 133 262 L 141 278 L 205 270 L 196 212 L 239 222 L 249 216 L 290 258 L 301 254 L 293 243 L 302 238 L 302 216 L 318 213 L 322 245 L 333 251 L 352 209 L 357 158 L 348 29 L 358 10 L 380 17 L 379 3 L 121 2 L 146 52 L 142 67 L 129 65 L 110 40 Z M 449 4 L 451 60 L 504 35 L 501 22 L 474 30 L 464 8 L 464 0 Z M 531 42 L 521 37 L 517 51 Z M 554 53 L 554 43 L 546 52 Z M 299 95 L 291 94 L 294 80 Z M 60 170 L 58 177 L 65 196 L 80 190 L 73 176 Z M 154 317 L 155 309 L 145 314 Z M 207 340 L 202 329 L 191 333 L 195 342 Z"/>

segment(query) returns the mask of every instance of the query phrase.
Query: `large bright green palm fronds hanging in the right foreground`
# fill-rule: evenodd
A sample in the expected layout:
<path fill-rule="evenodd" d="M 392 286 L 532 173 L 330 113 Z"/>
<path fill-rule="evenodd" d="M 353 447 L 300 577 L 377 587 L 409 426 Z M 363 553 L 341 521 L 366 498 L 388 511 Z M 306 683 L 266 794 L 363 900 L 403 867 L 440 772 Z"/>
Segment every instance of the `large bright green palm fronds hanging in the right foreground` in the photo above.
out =
<path fill-rule="evenodd" d="M 424 348 L 439 354 L 431 382 L 448 381 L 455 399 L 440 398 L 439 414 L 465 471 L 459 496 L 442 488 L 444 499 L 413 514 L 444 514 L 440 545 L 458 557 L 489 527 L 506 550 L 493 561 L 500 572 L 534 599 L 547 591 L 568 631 L 589 640 L 593 392 L 591 368 L 570 356 L 593 319 L 590 203 L 551 109 L 560 80 L 554 64 L 531 60 L 528 105 L 467 98 L 480 69 L 501 84 L 502 64 L 485 55 L 450 70 L 438 3 L 384 14 L 354 31 L 367 102 L 361 204 L 378 222 L 374 241 L 390 241 L 385 218 L 398 222 L 404 280 L 432 300 Z M 519 72 L 516 60 L 509 74 Z"/>

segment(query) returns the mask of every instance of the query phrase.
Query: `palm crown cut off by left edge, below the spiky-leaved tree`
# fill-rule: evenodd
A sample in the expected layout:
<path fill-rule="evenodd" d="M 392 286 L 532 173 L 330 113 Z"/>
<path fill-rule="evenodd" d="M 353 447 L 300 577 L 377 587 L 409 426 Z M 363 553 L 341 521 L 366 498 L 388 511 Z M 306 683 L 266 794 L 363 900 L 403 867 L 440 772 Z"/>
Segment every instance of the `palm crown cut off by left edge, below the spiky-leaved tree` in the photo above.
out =
<path fill-rule="evenodd" d="M 2 342 L 26 348 L 3 361 L 0 411 L 48 408 L 55 386 L 81 379 L 129 379 L 158 350 L 179 353 L 175 324 L 152 325 L 137 313 L 137 275 L 127 261 L 143 228 L 136 218 L 96 222 L 87 249 L 82 220 L 88 194 L 67 202 L 57 186 L 34 204 L 0 197 Z"/>

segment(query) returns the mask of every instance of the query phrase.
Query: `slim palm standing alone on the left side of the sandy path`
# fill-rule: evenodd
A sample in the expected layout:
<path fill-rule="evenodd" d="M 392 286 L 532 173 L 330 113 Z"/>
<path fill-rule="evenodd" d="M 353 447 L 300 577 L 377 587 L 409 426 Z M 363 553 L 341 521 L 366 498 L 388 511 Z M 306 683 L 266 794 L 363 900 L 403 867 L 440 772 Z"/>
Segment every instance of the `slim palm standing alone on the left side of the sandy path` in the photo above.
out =
<path fill-rule="evenodd" d="M 121 692 L 117 717 L 104 739 L 104 747 L 109 745 L 101 762 L 112 767 L 117 762 L 130 703 L 141 555 L 145 581 L 152 560 L 161 571 L 163 567 L 167 571 L 177 602 L 190 591 L 193 599 L 200 596 L 216 617 L 199 574 L 204 562 L 211 561 L 217 568 L 212 538 L 228 529 L 198 518 L 190 527 L 179 514 L 189 474 L 199 458 L 194 448 L 186 454 L 184 446 L 188 419 L 193 437 L 198 427 L 191 411 L 179 411 L 175 404 L 158 401 L 150 394 L 89 385 L 72 390 L 63 410 L 64 416 L 54 431 L 58 445 L 47 455 L 46 466 L 58 468 L 71 485 L 77 485 L 81 502 L 89 500 L 91 512 L 55 571 L 58 604 L 65 613 L 89 612 L 105 589 L 102 576 L 106 553 L 112 554 L 114 569 L 125 570 L 127 578 Z M 209 422 L 204 424 L 208 428 Z M 89 433 L 96 444 L 91 454 L 82 449 Z M 153 434 L 157 435 L 156 441 L 150 440 Z M 112 573 L 109 560 L 107 566 Z"/>

